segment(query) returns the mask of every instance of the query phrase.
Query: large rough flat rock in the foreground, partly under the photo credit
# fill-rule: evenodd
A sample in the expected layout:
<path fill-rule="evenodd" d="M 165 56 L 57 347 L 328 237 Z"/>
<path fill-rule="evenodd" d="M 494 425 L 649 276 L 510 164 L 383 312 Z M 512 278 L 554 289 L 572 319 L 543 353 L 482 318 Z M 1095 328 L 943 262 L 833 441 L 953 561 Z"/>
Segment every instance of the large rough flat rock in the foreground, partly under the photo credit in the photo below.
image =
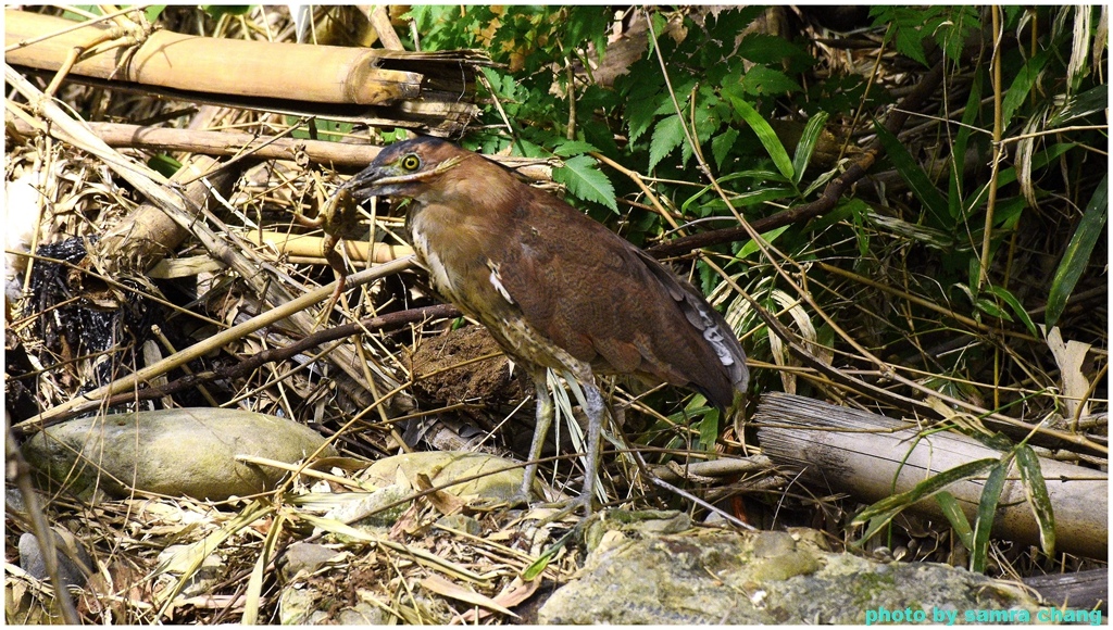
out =
<path fill-rule="evenodd" d="M 831 553 L 801 532 L 644 532 L 599 537 L 583 569 L 541 607 L 538 621 L 860 624 L 867 613 L 898 613 L 913 616 L 904 622 L 939 624 L 946 619 L 933 616 L 958 611 L 961 623 L 966 610 L 1035 619 L 1036 602 L 1007 583 L 943 564 Z"/>

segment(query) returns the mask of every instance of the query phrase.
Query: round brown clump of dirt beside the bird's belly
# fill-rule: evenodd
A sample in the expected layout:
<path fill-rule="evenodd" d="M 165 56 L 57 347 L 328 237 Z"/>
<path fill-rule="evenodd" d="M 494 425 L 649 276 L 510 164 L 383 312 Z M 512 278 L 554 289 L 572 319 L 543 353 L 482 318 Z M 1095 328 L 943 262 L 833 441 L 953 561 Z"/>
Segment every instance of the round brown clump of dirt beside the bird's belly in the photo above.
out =
<path fill-rule="evenodd" d="M 467 363 L 496 354 L 483 361 Z M 461 365 L 463 364 L 463 365 Z M 481 403 L 499 406 L 521 401 L 526 388 L 520 376 L 511 375 L 511 362 L 482 326 L 465 326 L 425 339 L 410 357 L 414 393 L 443 403 Z"/>

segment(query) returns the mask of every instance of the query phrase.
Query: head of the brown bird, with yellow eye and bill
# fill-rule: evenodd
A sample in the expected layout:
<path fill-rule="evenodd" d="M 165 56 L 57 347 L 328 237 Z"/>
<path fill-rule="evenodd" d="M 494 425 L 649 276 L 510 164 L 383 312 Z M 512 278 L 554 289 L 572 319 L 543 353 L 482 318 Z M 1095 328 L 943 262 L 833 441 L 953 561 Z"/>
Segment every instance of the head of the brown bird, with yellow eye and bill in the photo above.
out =
<path fill-rule="evenodd" d="M 357 200 L 393 196 L 422 199 L 443 189 L 445 178 L 472 154 L 437 138 L 420 137 L 395 142 L 357 173 L 337 193 L 346 191 Z M 450 175 L 451 174 L 451 175 Z"/>

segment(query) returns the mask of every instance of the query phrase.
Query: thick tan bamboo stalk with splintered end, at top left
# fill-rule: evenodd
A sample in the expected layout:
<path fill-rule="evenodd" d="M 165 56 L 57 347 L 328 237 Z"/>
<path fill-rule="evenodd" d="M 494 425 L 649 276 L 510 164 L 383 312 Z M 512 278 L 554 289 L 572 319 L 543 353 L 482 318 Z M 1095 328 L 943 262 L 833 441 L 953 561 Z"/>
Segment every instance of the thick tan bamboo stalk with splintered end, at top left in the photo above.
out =
<path fill-rule="evenodd" d="M 4 11 L 6 61 L 104 89 L 452 136 L 479 115 L 482 51 L 413 52 L 247 41 L 159 30 L 136 41 L 104 23 Z M 77 27 L 77 28 L 76 28 Z M 119 39 L 111 39 L 121 36 Z M 99 42 L 88 51 L 90 45 Z"/>

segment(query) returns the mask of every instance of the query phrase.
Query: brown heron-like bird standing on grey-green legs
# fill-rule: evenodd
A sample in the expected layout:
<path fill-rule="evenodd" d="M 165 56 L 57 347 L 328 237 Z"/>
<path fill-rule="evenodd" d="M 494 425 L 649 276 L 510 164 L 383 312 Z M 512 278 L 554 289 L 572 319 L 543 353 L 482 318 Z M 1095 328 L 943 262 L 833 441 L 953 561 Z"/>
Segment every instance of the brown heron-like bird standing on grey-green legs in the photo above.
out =
<path fill-rule="evenodd" d="M 526 500 L 553 419 L 545 368 L 583 388 L 591 512 L 605 405 L 594 374 L 696 390 L 737 410 L 749 373 L 730 326 L 690 284 L 561 199 L 435 138 L 396 142 L 348 180 L 356 199 L 413 199 L 406 230 L 433 289 L 483 323 L 533 378 Z"/>

